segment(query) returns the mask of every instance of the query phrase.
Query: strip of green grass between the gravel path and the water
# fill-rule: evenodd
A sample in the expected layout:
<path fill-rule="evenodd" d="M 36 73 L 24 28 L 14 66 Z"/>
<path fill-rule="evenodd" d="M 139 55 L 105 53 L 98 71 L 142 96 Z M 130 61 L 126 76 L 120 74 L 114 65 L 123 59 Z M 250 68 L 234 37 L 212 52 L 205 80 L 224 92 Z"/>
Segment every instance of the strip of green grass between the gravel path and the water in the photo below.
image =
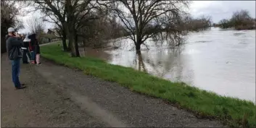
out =
<path fill-rule="evenodd" d="M 82 69 L 103 80 L 117 82 L 138 93 L 162 98 L 202 118 L 215 118 L 229 127 L 256 127 L 256 106 L 250 101 L 229 98 L 191 87 L 183 82 L 170 82 L 128 67 L 107 64 L 91 57 L 71 58 L 61 46 L 41 46 L 41 55 L 58 64 Z"/>

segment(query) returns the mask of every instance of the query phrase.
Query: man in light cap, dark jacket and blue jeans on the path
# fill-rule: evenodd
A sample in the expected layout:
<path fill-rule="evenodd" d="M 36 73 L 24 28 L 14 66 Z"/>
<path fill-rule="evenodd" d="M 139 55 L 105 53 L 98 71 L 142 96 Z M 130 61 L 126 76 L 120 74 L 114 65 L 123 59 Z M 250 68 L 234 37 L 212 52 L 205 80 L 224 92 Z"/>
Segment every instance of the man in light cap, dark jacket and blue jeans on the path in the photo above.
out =
<path fill-rule="evenodd" d="M 21 47 L 23 41 L 20 40 L 19 35 L 15 35 L 15 29 L 13 27 L 8 28 L 7 40 L 7 53 L 9 59 L 12 61 L 12 82 L 15 84 L 16 89 L 25 88 L 24 84 L 20 83 L 20 59 L 22 58 Z"/>

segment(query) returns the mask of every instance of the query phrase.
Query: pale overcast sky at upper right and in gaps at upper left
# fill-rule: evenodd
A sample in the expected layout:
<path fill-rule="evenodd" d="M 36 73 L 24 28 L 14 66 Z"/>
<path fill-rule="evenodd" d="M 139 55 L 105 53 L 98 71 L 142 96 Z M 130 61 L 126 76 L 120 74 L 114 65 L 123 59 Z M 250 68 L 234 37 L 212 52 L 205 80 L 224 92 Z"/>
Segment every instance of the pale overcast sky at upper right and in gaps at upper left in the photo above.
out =
<path fill-rule="evenodd" d="M 193 17 L 202 15 L 212 17 L 212 22 L 219 22 L 224 18 L 230 18 L 233 12 L 247 9 L 251 17 L 255 18 L 255 1 L 192 1 L 189 12 Z M 28 14 L 25 17 L 19 17 L 24 22 L 32 15 L 40 15 L 39 12 Z M 45 22 L 46 30 L 53 27 L 49 22 Z M 26 33 L 28 29 L 19 30 L 19 33 Z"/>

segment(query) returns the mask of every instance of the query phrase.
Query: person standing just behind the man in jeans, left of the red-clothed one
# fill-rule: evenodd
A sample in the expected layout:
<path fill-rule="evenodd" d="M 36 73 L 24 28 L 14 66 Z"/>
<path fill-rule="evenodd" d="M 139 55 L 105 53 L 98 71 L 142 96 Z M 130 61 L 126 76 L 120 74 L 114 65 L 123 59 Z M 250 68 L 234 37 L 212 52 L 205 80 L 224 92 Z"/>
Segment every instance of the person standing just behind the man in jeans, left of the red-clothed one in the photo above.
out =
<path fill-rule="evenodd" d="M 29 64 L 28 63 L 28 57 L 29 59 L 31 60 L 31 55 L 28 51 L 28 47 L 29 47 L 29 43 L 30 43 L 30 39 L 28 38 L 28 35 L 25 36 L 25 39 L 23 40 L 23 43 L 24 43 L 24 46 L 22 46 L 22 61 L 23 61 L 23 64 Z M 28 57 L 27 57 L 27 54 L 28 54 Z"/>

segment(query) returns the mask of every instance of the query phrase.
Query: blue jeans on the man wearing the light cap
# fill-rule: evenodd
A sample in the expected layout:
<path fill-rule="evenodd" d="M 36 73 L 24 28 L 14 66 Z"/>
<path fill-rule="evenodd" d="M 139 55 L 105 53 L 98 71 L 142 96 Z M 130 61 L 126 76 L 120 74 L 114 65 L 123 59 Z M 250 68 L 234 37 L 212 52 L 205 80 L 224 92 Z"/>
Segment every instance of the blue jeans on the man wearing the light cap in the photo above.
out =
<path fill-rule="evenodd" d="M 12 60 L 12 82 L 15 84 L 16 88 L 20 87 L 20 59 Z"/>

